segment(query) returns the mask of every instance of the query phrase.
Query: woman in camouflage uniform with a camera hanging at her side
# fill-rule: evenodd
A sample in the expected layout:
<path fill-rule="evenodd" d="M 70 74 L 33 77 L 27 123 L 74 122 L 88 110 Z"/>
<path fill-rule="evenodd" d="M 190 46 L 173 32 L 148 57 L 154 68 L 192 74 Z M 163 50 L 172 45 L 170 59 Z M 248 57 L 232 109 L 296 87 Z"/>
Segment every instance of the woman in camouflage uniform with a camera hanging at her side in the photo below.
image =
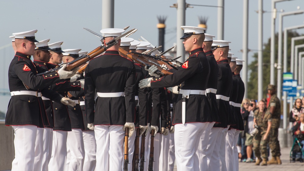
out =
<path fill-rule="evenodd" d="M 257 157 L 255 165 L 260 165 L 262 162 L 261 157 L 263 157 L 262 166 L 267 165 L 268 151 L 267 144 L 269 140 L 269 132 L 271 129 L 271 114 L 266 111 L 266 102 L 261 100 L 259 102 L 259 110 L 254 111 L 254 125 L 259 127 L 259 132 L 253 138 L 253 149 L 255 156 Z M 260 151 L 261 150 L 261 151 Z"/>

